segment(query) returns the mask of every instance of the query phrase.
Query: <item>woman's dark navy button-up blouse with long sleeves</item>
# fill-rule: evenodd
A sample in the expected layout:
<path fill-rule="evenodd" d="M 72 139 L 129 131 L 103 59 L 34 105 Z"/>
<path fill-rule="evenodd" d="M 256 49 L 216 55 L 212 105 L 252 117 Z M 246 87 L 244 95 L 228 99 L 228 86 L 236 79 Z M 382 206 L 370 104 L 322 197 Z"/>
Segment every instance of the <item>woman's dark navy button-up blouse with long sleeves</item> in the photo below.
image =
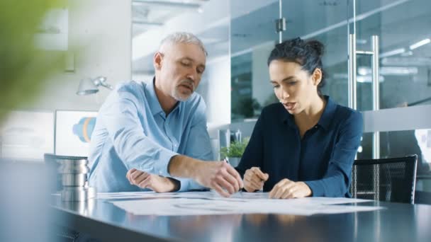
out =
<path fill-rule="evenodd" d="M 351 197 L 352 165 L 362 137 L 362 114 L 338 105 L 328 96 L 317 125 L 301 136 L 281 103 L 262 110 L 237 171 L 253 166 L 269 179 L 264 191 L 280 180 L 303 181 L 313 197 Z"/>

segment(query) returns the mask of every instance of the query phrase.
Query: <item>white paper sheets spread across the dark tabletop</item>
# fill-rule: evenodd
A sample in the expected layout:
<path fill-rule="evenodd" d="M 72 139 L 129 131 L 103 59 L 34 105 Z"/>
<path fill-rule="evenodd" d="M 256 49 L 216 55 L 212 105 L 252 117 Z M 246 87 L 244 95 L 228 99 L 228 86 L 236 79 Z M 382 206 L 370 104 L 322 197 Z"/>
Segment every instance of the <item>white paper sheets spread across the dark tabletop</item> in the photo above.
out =
<path fill-rule="evenodd" d="M 206 215 L 206 214 L 339 214 L 383 209 L 359 206 L 351 198 L 306 197 L 290 200 L 269 199 L 268 192 L 237 192 L 225 198 L 215 192 L 121 192 L 99 193 L 105 199 L 136 215 Z M 342 203 L 354 203 L 343 204 Z"/>

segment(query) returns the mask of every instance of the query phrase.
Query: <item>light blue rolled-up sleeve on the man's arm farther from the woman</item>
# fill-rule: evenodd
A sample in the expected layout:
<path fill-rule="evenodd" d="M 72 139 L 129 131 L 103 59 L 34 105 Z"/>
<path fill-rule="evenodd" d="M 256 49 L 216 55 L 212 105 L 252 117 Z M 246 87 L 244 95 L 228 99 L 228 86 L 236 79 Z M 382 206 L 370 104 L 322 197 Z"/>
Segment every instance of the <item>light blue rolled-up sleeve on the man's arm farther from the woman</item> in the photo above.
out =
<path fill-rule="evenodd" d="M 145 114 L 138 115 L 138 98 L 124 87 L 109 98 L 111 100 L 103 106 L 98 121 L 103 122 L 108 130 L 114 149 L 125 167 L 169 176 L 167 164 L 177 153 L 145 135 L 139 118 L 139 115 Z"/>

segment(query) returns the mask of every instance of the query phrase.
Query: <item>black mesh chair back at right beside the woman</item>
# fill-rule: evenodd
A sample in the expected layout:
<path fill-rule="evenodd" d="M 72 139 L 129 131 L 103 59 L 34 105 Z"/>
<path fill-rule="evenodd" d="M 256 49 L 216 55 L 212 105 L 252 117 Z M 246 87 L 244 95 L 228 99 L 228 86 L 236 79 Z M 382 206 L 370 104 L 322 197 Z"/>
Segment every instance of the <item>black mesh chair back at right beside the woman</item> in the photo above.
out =
<path fill-rule="evenodd" d="M 354 161 L 352 197 L 413 204 L 417 164 L 417 155 Z"/>

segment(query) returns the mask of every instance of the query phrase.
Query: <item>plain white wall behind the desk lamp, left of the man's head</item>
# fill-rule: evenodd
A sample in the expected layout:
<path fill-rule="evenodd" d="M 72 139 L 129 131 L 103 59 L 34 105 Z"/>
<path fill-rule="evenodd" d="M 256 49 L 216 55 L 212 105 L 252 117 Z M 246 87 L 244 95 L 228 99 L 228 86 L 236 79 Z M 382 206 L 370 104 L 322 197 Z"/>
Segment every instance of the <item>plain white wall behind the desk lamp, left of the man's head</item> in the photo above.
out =
<path fill-rule="evenodd" d="M 116 83 L 131 78 L 131 0 L 69 0 L 69 52 L 74 72 L 53 76 L 35 109 L 99 110 L 110 92 L 77 96 L 79 81 L 106 76 Z M 74 51 L 74 45 L 80 51 Z"/>

